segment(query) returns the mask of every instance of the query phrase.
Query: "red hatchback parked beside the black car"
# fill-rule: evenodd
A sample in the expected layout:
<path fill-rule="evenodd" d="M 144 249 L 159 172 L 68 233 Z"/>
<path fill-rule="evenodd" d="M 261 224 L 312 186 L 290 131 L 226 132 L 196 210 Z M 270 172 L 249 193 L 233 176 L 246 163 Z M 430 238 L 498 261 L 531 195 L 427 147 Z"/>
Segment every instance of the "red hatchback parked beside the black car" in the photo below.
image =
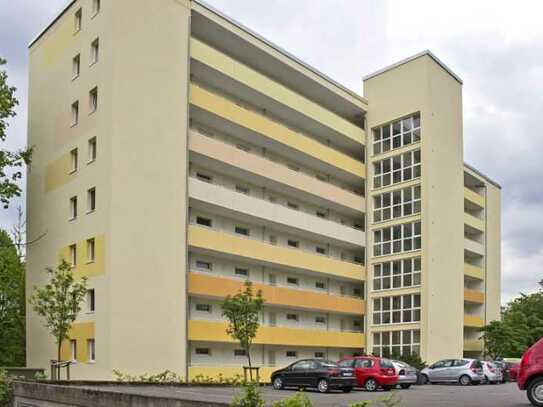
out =
<path fill-rule="evenodd" d="M 352 356 L 340 360 L 338 365 L 353 368 L 358 386 L 367 391 L 375 391 L 379 387 L 390 390 L 398 383 L 394 365 L 388 359 L 375 356 Z"/>

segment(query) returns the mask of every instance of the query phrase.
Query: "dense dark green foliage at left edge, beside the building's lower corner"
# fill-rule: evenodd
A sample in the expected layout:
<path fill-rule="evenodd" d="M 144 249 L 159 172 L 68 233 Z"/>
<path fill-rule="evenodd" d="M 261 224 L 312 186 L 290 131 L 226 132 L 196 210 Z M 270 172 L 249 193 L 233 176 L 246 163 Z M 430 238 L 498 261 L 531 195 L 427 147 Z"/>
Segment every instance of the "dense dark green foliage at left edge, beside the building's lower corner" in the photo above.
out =
<path fill-rule="evenodd" d="M 0 366 L 25 366 L 25 267 L 0 230 Z"/>

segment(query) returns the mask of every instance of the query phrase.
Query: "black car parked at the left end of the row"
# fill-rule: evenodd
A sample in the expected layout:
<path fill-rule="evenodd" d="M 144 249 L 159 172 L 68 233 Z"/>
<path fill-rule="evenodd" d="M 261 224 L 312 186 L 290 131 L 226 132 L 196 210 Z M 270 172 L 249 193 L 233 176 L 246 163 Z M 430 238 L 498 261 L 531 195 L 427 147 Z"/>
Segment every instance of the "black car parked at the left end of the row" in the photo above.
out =
<path fill-rule="evenodd" d="M 356 378 L 352 368 L 339 367 L 336 362 L 322 359 L 303 359 L 276 370 L 271 375 L 273 388 L 315 387 L 326 393 L 331 389 L 350 392 L 356 386 Z"/>

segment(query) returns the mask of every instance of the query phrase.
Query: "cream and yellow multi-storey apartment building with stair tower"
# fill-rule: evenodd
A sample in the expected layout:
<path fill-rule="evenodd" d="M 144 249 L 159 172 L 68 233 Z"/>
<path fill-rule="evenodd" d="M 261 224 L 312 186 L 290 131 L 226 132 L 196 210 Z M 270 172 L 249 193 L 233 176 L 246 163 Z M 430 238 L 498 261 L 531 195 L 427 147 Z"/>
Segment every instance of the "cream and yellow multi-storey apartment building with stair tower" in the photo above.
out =
<path fill-rule="evenodd" d="M 221 301 L 266 300 L 252 359 L 480 355 L 500 187 L 463 161 L 462 81 L 426 51 L 337 82 L 199 0 L 76 0 L 32 41 L 28 294 L 89 292 L 72 375 L 241 373 Z M 27 317 L 29 366 L 53 340 Z"/>

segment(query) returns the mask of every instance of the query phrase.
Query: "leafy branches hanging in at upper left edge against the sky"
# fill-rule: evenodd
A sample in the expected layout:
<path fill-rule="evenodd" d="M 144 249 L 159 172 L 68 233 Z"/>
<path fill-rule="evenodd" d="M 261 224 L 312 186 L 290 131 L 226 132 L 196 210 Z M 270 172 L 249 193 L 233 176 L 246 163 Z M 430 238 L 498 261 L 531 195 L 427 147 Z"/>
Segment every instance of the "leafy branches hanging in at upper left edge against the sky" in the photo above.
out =
<path fill-rule="evenodd" d="M 6 60 L 0 58 L 0 67 Z M 15 106 L 19 104 L 15 98 L 16 88 L 7 83 L 7 73 L 0 70 L 0 141 L 7 138 L 8 119 L 15 116 Z M 0 202 L 7 208 L 10 199 L 21 195 L 18 181 L 23 176 L 22 166 L 30 164 L 32 148 L 9 151 L 0 149 Z"/>

